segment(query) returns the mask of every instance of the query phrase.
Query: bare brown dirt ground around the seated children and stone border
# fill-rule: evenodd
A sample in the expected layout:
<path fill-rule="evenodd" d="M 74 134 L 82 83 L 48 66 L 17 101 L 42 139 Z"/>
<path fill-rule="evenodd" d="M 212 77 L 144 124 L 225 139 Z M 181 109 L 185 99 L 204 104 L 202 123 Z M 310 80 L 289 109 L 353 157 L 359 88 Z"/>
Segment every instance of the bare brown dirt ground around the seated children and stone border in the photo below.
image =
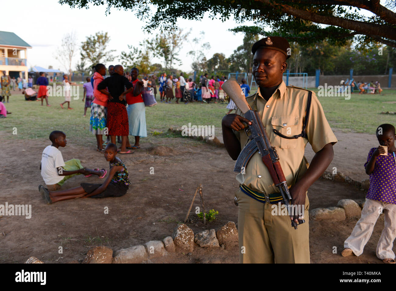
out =
<path fill-rule="evenodd" d="M 377 143 L 372 136 L 362 136 L 352 134 L 344 138 L 337 134 L 343 144 L 340 141 L 339 150 L 335 147 L 333 163 L 339 171 L 352 178 L 364 177 L 362 165 L 368 149 Z M 370 142 L 366 141 L 368 138 L 371 138 Z M 188 226 L 194 232 L 211 228 L 217 230 L 228 221 L 238 221 L 238 208 L 233 202 L 238 188 L 232 171 L 234 161 L 224 148 L 187 138 L 158 137 L 150 143 L 145 143 L 143 139 L 141 149 L 132 155 L 120 156 L 132 182 L 126 195 L 74 199 L 47 205 L 37 186 L 44 184 L 39 165 L 42 150 L 48 144 L 48 140 L 0 140 L 3 149 L 0 151 L 0 204 L 32 205 L 30 219 L 24 216 L 0 218 L 1 263 L 22 263 L 30 256 L 46 263 L 66 263 L 81 260 L 89 247 L 95 245 L 105 245 L 116 251 L 150 240 L 162 240 L 172 234 L 178 222 L 184 220 L 197 184 L 203 185 L 206 209 L 215 209 L 219 215 L 215 221 L 204 226 L 192 211 L 190 218 L 194 222 Z M 343 150 L 343 147 L 348 150 Z M 78 158 L 85 167 L 109 167 L 102 154 L 93 148 L 75 145 L 72 138 L 68 138 L 67 146 L 61 151 L 65 161 Z M 362 152 L 362 155 L 357 152 Z M 150 174 L 150 167 L 154 167 L 154 174 Z M 101 181 L 96 176 L 84 178 L 78 175 L 69 179 L 63 187 Z M 353 186 L 327 180 L 318 180 L 308 191 L 310 209 L 335 206 L 339 199 L 364 199 L 364 196 L 364 192 Z M 104 213 L 106 206 L 109 207 L 109 214 Z M 199 198 L 195 200 L 193 210 L 196 206 L 200 206 Z M 310 221 L 311 262 L 382 263 L 375 257 L 376 244 L 383 229 L 382 215 L 364 254 L 360 257 L 341 257 L 343 242 L 356 221 L 357 218 L 342 223 Z M 63 254 L 58 253 L 59 246 L 63 247 Z M 337 254 L 332 253 L 333 246 L 337 247 Z M 196 247 L 192 256 L 175 253 L 149 262 L 236 263 L 238 247 Z"/>

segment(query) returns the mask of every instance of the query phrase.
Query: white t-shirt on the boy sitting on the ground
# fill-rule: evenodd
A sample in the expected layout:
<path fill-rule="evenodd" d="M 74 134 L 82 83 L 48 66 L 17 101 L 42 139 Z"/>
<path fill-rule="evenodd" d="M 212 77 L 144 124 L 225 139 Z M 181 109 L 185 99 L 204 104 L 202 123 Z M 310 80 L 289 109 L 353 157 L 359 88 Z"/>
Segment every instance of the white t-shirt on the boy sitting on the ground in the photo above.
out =
<path fill-rule="evenodd" d="M 56 147 L 48 145 L 41 157 L 41 176 L 47 185 L 60 182 L 65 176 L 59 176 L 58 167 L 65 166 L 62 153 Z"/>

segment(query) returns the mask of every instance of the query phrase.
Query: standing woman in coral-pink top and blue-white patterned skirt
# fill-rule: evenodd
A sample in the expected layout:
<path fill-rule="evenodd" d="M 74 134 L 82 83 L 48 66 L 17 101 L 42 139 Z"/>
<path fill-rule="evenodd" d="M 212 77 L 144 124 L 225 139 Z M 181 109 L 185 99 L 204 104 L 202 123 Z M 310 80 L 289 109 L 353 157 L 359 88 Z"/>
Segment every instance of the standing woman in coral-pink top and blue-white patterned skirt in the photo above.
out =
<path fill-rule="evenodd" d="M 97 151 L 103 151 L 102 134 L 105 132 L 107 120 L 107 101 L 109 97 L 97 90 L 97 86 L 104 80 L 106 75 L 106 67 L 103 64 L 95 66 L 95 74 L 93 74 L 93 96 L 95 99 L 91 104 L 91 117 L 89 119 L 89 131 L 96 135 Z"/>

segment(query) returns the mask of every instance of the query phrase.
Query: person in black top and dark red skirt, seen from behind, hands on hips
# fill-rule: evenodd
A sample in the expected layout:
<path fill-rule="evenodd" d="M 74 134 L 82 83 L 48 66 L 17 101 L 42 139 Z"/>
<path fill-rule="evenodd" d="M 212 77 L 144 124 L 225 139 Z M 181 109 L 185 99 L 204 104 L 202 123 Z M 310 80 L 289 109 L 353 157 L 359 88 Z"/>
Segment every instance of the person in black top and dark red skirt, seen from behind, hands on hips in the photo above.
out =
<path fill-rule="evenodd" d="M 125 87 L 127 90 L 124 90 Z M 109 92 L 105 89 L 108 88 Z M 128 113 L 126 111 L 125 95 L 133 90 L 132 84 L 124 77 L 122 65 L 114 67 L 114 74 L 105 78 L 97 87 L 103 94 L 109 96 L 107 104 L 107 127 L 112 144 L 116 143 L 116 136 L 121 136 L 120 154 L 130 154 L 133 151 L 126 150 L 129 134 Z"/>

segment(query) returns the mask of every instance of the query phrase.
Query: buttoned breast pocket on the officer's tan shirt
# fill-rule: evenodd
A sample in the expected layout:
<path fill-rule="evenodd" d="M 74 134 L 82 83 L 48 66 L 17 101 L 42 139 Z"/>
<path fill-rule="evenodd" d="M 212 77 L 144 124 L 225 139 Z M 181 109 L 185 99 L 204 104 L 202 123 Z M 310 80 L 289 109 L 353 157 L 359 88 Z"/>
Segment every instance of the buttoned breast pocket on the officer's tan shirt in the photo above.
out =
<path fill-rule="evenodd" d="M 285 136 L 301 134 L 301 129 L 299 129 L 298 123 L 298 117 L 291 115 L 274 116 L 271 119 L 272 128 L 278 130 Z M 276 135 L 274 132 L 272 132 L 272 135 L 274 136 L 274 140 L 278 141 L 277 144 L 281 149 L 295 149 L 297 147 L 297 138 L 289 140 Z M 276 147 L 275 144 L 273 144 L 273 146 Z"/>

